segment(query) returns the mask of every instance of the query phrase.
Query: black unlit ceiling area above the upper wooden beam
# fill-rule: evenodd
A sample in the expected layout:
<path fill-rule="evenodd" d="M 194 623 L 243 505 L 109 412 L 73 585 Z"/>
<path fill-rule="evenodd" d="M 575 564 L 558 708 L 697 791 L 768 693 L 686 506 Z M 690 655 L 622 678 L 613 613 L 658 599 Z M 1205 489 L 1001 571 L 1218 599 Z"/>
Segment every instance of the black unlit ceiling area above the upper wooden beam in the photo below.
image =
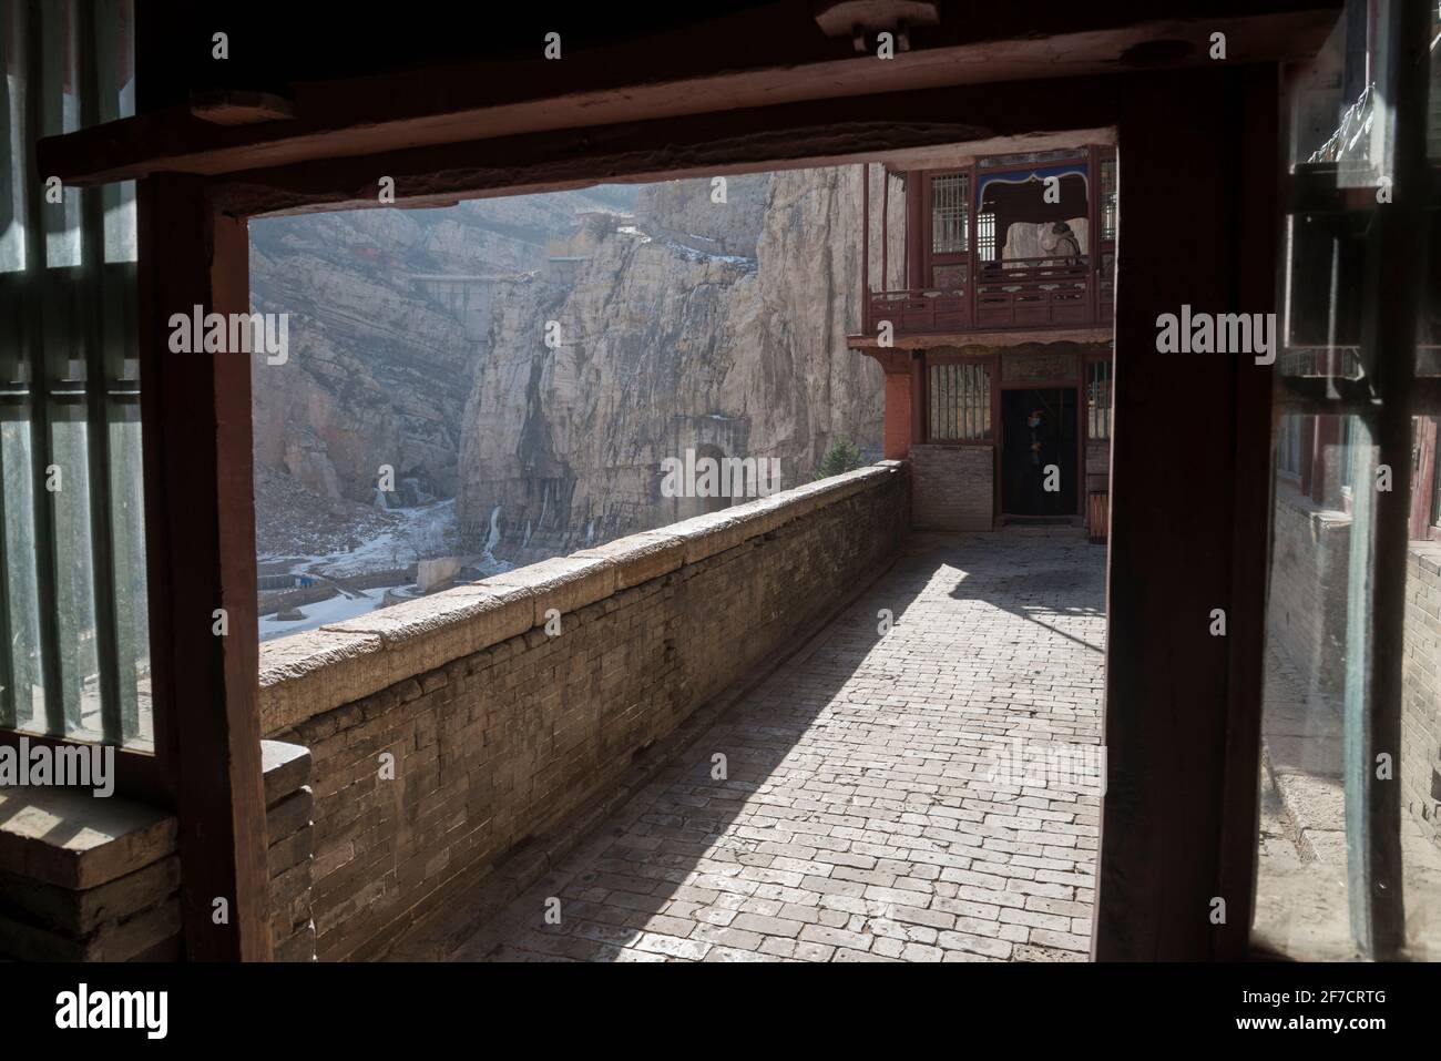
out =
<path fill-rule="evenodd" d="M 536 59 L 549 32 L 563 55 L 654 40 L 650 65 L 689 66 L 696 75 L 772 62 L 801 65 L 855 55 L 849 37 L 826 36 L 813 0 L 599 4 L 412 3 L 382 13 L 333 0 L 251 0 L 196 4 L 140 0 L 164 25 L 174 78 L 195 91 L 258 89 L 285 94 L 293 84 L 422 69 L 435 65 L 510 63 Z M 1316 0 L 1074 0 L 1032 3 L 940 3 L 940 25 L 911 30 L 919 48 L 1043 40 L 1154 20 L 1226 19 L 1314 9 Z M 144 16 L 143 16 L 144 17 Z M 225 62 L 210 58 L 210 37 L 229 35 Z M 1177 42 L 1172 42 L 1173 45 Z M 1160 37 L 1154 48 L 1164 49 Z M 1187 53 L 1193 50 L 1187 46 Z M 644 55 L 644 52 L 641 52 Z M 628 50 L 633 62 L 637 52 Z M 1159 56 L 1173 62 L 1185 56 Z M 1151 65 L 1144 52 L 1136 66 Z M 640 61 L 644 62 L 644 61 Z M 638 79 L 646 71 L 635 71 Z"/>

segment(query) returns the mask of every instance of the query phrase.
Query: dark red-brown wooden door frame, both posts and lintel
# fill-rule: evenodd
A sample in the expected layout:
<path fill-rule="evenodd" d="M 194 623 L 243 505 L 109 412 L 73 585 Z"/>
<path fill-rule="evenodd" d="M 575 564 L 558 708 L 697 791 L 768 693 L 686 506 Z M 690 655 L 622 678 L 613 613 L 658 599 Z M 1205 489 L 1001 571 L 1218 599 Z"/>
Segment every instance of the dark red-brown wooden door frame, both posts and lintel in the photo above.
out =
<path fill-rule="evenodd" d="M 156 52 L 157 43 L 151 39 L 148 62 L 143 53 L 144 69 L 164 69 L 169 56 Z M 1236 957 L 1245 951 L 1257 852 L 1270 375 L 1229 359 L 1160 356 L 1151 321 L 1183 301 L 1216 310 L 1272 308 L 1275 101 L 1272 63 L 1213 63 L 857 95 L 847 99 L 844 120 L 837 120 L 833 101 L 803 101 L 444 147 L 385 150 L 378 138 L 369 154 L 310 157 L 233 176 L 215 172 L 208 179 L 154 176 L 141 197 L 143 232 L 148 232 L 141 254 L 148 285 L 143 334 L 154 345 L 177 300 L 246 308 L 248 215 L 367 202 L 380 174 L 396 179 L 401 199 L 429 200 L 574 187 L 599 174 L 713 176 L 859 161 L 981 136 L 1115 127 L 1120 186 L 1133 222 L 1121 226 L 1124 249 L 1118 241 L 1121 313 L 1112 383 L 1111 542 L 1112 555 L 1125 561 L 1110 565 L 1107 577 L 1110 793 L 1094 949 L 1099 959 Z M 965 115 L 964 124 L 957 114 Z M 582 117 L 578 110 L 576 118 Z M 48 141 L 42 166 L 84 182 L 76 159 L 94 166 L 102 160 L 89 148 L 71 150 L 75 138 L 98 143 L 94 130 Z M 135 154 L 134 144 L 124 147 L 121 154 Z M 46 164 L 46 151 L 53 164 Z M 501 157 L 507 164 L 497 169 L 494 160 Z M 1187 166 L 1170 164 L 1182 157 Z M 1166 174 L 1164 187 L 1157 174 Z M 1156 223 L 1172 216 L 1176 202 L 1189 203 L 1196 222 L 1186 272 L 1174 268 L 1174 239 L 1163 238 L 1164 226 Z M 163 221 L 184 232 L 166 236 Z M 164 258 L 156 257 L 159 247 L 166 248 Z M 182 280 L 186 275 L 199 280 Z M 208 931 L 199 913 L 209 901 L 206 891 L 231 889 L 245 924 L 229 934 L 196 937 L 192 953 L 264 957 L 264 905 L 252 901 L 264 889 L 265 833 L 255 761 L 249 365 L 205 358 L 197 362 L 208 368 L 199 368 L 169 359 L 157 372 L 159 359 L 150 356 L 146 389 L 159 394 L 147 405 L 147 458 L 156 445 L 164 447 L 156 456 L 157 481 L 147 476 L 147 492 L 161 492 L 153 526 L 169 520 L 177 530 L 200 532 L 189 545 L 173 533 L 169 549 L 151 556 L 151 571 L 170 565 L 171 584 L 153 600 L 166 620 L 157 637 L 170 639 L 174 672 L 167 695 L 184 711 L 177 761 L 182 817 L 192 820 L 183 849 L 189 848 L 187 865 L 200 865 L 197 852 L 205 851 L 213 866 L 209 878 L 186 879 L 186 927 L 187 934 Z M 1177 417 L 1164 399 L 1177 394 L 1195 411 Z M 184 405 L 184 398 L 195 405 Z M 166 432 L 163 441 L 148 438 L 157 425 Z M 1189 460 L 1189 490 L 1173 487 L 1174 467 L 1151 445 L 1164 432 L 1187 444 L 1174 456 Z M 170 451 L 190 443 L 190 454 Z M 1179 554 L 1186 564 L 1176 562 Z M 183 585 L 187 581 L 195 585 Z M 1232 611 L 1225 643 L 1206 634 L 1216 587 L 1229 590 L 1222 594 Z M 209 637 L 209 608 L 199 617 L 195 611 L 216 600 L 233 607 L 223 646 L 196 633 Z M 1232 910 L 1219 928 L 1206 918 L 1215 895 L 1229 897 Z"/>

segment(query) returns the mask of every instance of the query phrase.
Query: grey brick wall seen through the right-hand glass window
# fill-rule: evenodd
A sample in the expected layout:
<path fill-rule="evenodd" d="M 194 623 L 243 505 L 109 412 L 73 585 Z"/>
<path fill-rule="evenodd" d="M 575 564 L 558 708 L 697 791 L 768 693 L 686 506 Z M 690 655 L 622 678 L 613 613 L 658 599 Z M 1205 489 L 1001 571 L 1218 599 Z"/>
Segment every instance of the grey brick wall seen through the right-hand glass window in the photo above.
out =
<path fill-rule="evenodd" d="M 1274 520 L 1267 634 L 1307 682 L 1308 698 L 1339 709 L 1350 516 L 1319 507 L 1282 480 Z M 1408 546 L 1405 608 L 1401 799 L 1422 833 L 1441 846 L 1441 543 Z"/>

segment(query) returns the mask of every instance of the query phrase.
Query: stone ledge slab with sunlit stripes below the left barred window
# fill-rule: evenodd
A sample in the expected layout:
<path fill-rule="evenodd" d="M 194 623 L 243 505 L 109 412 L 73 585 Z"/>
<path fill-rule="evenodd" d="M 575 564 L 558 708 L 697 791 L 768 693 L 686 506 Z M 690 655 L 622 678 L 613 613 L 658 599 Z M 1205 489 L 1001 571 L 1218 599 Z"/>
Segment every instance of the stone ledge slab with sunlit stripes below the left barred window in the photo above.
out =
<path fill-rule="evenodd" d="M 0 869 L 75 891 L 176 851 L 173 814 L 84 789 L 0 787 Z"/>

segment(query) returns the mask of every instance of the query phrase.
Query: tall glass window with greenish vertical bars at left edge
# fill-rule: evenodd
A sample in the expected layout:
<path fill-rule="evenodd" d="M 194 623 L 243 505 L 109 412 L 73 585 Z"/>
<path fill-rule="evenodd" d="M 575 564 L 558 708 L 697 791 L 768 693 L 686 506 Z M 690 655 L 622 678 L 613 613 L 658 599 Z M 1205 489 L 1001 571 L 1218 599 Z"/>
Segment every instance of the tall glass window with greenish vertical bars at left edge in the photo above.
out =
<path fill-rule="evenodd" d="M 0 727 L 148 748 L 135 189 L 33 173 L 40 137 L 134 114 L 133 25 L 0 0 Z"/>

